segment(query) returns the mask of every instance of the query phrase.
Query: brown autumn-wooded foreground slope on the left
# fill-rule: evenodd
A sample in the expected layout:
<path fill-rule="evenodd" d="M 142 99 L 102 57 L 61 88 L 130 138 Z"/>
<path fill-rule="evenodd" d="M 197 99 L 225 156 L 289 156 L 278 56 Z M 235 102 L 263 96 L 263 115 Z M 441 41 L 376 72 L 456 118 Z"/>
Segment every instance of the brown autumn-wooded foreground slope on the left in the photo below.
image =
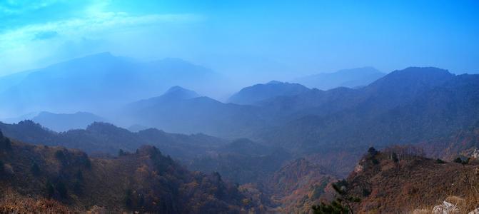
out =
<path fill-rule="evenodd" d="M 190 172 L 153 146 L 116 158 L 0 134 L 0 212 L 240 213 L 258 205 L 218 173 Z"/>

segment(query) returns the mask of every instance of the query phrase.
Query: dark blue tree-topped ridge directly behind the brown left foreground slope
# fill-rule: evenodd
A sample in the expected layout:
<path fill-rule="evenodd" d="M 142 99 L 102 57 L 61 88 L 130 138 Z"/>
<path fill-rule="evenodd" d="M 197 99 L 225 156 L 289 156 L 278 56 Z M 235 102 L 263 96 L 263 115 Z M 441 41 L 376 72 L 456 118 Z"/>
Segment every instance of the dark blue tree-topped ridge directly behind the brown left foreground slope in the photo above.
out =
<path fill-rule="evenodd" d="M 211 148 L 226 143 L 220 138 L 203 134 L 182 135 L 165 133 L 149 128 L 132 133 L 109 123 L 92 123 L 84 129 L 75 129 L 62 133 L 49 131 L 39 123 L 21 121 L 15 124 L 0 123 L 5 136 L 19 141 L 47 146 L 65 146 L 77 148 L 87 153 L 106 153 L 115 155 L 119 150 L 135 151 L 142 145 L 152 145 L 164 153 L 178 159 L 189 159 L 201 155 Z"/>

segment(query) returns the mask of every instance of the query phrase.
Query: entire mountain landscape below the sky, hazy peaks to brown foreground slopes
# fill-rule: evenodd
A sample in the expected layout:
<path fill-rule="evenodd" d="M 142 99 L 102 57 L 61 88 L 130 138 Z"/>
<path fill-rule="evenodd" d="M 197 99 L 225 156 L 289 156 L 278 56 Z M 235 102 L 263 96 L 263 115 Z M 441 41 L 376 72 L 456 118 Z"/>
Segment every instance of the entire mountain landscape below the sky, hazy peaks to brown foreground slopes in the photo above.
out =
<path fill-rule="evenodd" d="M 390 213 L 450 203 L 451 195 L 468 202 L 454 202 L 458 209 L 473 210 L 479 75 L 433 67 L 338 73 L 345 78 L 310 78 L 328 86 L 248 86 L 226 103 L 197 90 L 218 81 L 213 71 L 177 59 L 99 54 L 0 78 L 11 81 L 0 87 L 2 111 L 40 112 L 0 123 L 0 212 L 29 212 L 18 206 L 29 203 L 45 212 L 347 205 Z M 87 112 L 90 104 L 97 111 Z"/>

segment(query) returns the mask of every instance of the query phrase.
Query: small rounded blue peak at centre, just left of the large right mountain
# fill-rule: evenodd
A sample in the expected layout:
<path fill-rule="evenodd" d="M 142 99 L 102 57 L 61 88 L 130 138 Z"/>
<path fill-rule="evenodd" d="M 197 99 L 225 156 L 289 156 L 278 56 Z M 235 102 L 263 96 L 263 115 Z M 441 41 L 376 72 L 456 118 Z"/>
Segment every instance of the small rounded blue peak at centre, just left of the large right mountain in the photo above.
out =
<path fill-rule="evenodd" d="M 254 104 L 276 96 L 292 96 L 309 91 L 309 88 L 298 83 L 270 81 L 241 89 L 228 99 L 229 103 Z"/>

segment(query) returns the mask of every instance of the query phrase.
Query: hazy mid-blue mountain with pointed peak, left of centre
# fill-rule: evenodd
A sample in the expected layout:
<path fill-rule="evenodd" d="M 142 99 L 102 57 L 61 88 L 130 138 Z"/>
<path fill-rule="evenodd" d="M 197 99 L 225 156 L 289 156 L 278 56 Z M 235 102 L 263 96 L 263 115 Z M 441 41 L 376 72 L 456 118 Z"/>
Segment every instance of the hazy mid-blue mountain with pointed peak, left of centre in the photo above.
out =
<path fill-rule="evenodd" d="M 206 96 L 195 97 L 196 93 L 184 88 L 173 89 L 162 96 L 129 103 L 119 113 L 118 123 L 124 126 L 139 124 L 173 133 L 229 137 L 242 136 L 245 128 L 259 128 L 264 124 L 261 118 L 265 112 L 256 106 L 221 103 Z"/>

